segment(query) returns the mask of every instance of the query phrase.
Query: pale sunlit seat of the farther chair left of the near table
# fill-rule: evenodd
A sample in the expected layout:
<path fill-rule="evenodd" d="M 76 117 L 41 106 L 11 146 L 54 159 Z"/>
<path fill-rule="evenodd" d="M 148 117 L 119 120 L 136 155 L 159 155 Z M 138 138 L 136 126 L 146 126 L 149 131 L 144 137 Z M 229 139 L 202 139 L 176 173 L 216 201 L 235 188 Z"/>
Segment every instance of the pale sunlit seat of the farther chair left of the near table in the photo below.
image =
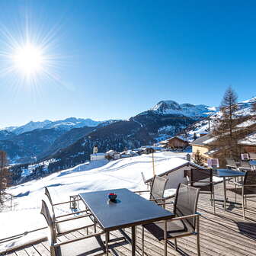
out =
<path fill-rule="evenodd" d="M 68 219 L 66 219 L 68 220 Z M 69 232 L 72 229 L 93 226 L 94 222 L 90 217 L 82 217 L 78 219 L 70 219 L 66 222 L 56 223 L 56 229 L 59 234 Z"/>

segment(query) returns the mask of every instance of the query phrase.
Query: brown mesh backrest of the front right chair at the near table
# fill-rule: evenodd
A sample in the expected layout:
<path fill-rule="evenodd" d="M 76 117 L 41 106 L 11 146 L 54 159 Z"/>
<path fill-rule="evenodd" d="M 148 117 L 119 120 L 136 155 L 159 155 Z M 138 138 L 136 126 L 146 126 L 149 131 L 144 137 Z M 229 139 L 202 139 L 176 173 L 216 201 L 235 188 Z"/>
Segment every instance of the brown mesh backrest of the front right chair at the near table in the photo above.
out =
<path fill-rule="evenodd" d="M 179 184 L 174 201 L 175 216 L 181 217 L 197 213 L 199 191 L 200 188 Z M 196 217 L 184 219 L 184 222 L 192 229 L 196 228 Z"/>

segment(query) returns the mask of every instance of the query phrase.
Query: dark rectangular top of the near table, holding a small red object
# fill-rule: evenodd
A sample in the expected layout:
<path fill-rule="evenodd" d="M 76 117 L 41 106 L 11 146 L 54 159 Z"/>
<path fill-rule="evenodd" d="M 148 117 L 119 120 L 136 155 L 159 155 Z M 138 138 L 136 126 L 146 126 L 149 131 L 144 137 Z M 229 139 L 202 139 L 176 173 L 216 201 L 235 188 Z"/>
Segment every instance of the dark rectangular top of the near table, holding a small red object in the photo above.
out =
<path fill-rule="evenodd" d="M 117 194 L 117 203 L 108 200 Z M 104 231 L 170 219 L 174 214 L 126 188 L 79 194 Z"/>

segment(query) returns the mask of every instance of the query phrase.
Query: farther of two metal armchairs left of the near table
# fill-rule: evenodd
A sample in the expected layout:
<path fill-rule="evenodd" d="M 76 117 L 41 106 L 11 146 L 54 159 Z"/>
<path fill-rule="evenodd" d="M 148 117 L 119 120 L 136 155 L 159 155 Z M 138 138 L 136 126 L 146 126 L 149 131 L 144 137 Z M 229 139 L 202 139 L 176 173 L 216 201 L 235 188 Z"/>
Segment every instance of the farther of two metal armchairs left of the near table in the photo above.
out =
<path fill-rule="evenodd" d="M 96 232 L 96 222 L 93 219 L 93 216 L 88 210 L 82 210 L 75 212 L 75 214 L 82 213 L 74 216 L 74 213 L 67 213 L 63 215 L 56 216 L 55 206 L 60 206 L 62 204 L 70 203 L 70 201 L 62 203 L 53 203 L 52 197 L 47 187 L 45 187 L 45 195 L 47 197 L 48 206 L 52 210 L 53 219 L 56 222 L 56 232 L 58 235 L 64 235 L 70 230 L 73 229 L 86 229 L 88 233 L 88 228 L 94 226 L 94 232 Z M 67 222 L 58 222 L 58 220 L 68 220 Z"/>

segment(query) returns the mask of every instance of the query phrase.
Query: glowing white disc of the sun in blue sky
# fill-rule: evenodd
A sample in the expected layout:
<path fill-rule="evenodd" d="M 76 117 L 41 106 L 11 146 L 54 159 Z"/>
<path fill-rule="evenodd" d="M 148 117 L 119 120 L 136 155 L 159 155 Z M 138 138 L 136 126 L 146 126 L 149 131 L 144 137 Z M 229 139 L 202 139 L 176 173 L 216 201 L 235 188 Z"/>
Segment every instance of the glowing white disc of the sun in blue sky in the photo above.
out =
<path fill-rule="evenodd" d="M 27 78 L 37 75 L 43 69 L 43 50 L 31 43 L 19 46 L 14 50 L 12 59 L 14 67 Z"/>

